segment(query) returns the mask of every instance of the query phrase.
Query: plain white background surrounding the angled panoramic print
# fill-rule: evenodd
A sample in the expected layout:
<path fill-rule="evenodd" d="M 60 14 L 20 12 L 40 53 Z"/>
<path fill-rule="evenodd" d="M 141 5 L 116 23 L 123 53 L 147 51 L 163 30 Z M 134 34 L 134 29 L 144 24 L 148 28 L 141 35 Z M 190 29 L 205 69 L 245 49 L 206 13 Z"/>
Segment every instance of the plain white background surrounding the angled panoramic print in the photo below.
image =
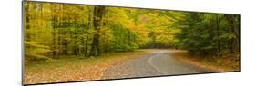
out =
<path fill-rule="evenodd" d="M 116 81 L 89 81 L 50 86 L 241 86 L 255 84 L 256 14 L 253 0 L 45 0 L 170 10 L 241 14 L 241 72 L 170 76 Z M 21 0 L 0 3 L 0 84 L 21 85 Z"/>

